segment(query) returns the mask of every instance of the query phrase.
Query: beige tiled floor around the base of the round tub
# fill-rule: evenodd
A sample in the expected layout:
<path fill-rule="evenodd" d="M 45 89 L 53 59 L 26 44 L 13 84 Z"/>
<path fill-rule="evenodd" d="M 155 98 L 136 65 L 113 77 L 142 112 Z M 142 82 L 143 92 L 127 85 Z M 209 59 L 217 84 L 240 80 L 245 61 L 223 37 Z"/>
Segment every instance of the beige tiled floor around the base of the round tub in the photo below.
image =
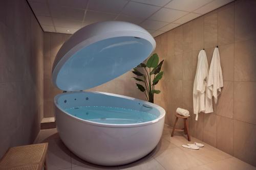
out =
<path fill-rule="evenodd" d="M 162 169 L 224 169 L 224 170 L 250 170 L 251 166 L 237 158 L 232 157 L 210 145 L 191 138 L 191 142 L 182 134 L 170 137 L 172 128 L 165 125 L 163 136 L 156 149 L 144 158 L 131 164 L 117 167 L 102 167 L 90 164 L 79 159 L 71 153 L 60 140 L 56 129 L 41 130 L 36 142 L 49 142 L 48 167 L 52 169 L 85 170 L 85 169 L 131 169 L 131 170 L 162 170 Z M 205 147 L 200 150 L 189 150 L 181 144 L 201 142 Z"/>

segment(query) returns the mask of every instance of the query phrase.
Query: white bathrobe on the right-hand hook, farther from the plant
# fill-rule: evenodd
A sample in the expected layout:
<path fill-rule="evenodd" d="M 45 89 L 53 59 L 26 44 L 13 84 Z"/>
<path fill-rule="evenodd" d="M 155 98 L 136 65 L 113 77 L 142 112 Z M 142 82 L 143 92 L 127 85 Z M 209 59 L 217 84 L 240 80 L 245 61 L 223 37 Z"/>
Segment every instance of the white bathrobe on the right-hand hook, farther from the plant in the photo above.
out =
<path fill-rule="evenodd" d="M 212 109 L 212 96 L 214 96 L 215 103 L 217 104 L 218 95 L 221 93 L 221 87 L 223 87 L 223 76 L 221 69 L 221 59 L 219 48 L 216 47 L 214 54 L 212 55 L 209 75 L 206 87 L 206 103 L 205 103 L 205 113 L 213 112 Z"/>

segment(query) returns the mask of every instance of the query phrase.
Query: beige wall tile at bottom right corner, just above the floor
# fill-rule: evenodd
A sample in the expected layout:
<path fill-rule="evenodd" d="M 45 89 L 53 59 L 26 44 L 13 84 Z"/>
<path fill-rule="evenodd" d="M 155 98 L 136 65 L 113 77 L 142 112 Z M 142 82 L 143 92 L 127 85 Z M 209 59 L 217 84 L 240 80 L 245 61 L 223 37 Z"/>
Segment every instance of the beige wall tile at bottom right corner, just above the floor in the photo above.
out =
<path fill-rule="evenodd" d="M 256 125 L 234 120 L 233 154 L 256 166 Z"/>

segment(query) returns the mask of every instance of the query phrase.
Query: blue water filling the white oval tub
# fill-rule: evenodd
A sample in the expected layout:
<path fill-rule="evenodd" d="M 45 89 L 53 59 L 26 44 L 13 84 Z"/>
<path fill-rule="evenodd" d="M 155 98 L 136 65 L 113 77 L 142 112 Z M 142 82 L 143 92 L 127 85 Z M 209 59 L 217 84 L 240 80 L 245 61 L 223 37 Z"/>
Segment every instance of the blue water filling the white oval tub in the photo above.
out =
<path fill-rule="evenodd" d="M 78 118 L 103 124 L 138 124 L 157 118 L 147 112 L 104 106 L 82 106 L 65 111 Z"/>

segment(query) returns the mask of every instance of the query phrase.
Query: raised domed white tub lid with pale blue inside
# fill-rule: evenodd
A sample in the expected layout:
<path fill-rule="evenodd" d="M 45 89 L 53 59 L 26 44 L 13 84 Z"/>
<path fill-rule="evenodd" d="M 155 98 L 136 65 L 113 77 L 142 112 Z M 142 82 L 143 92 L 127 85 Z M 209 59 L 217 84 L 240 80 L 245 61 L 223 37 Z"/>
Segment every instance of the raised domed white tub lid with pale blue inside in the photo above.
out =
<path fill-rule="evenodd" d="M 151 34 L 133 23 L 94 23 L 61 46 L 53 63 L 52 82 L 66 91 L 96 87 L 140 64 L 155 47 Z"/>

